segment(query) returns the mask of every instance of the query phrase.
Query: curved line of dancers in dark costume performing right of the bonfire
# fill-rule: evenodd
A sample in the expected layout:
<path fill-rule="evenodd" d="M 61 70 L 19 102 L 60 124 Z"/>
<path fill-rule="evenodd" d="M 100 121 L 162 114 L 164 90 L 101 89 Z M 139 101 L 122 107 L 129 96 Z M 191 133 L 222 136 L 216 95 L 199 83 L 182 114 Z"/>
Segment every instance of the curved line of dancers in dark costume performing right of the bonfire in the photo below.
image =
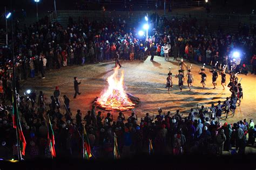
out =
<path fill-rule="evenodd" d="M 210 69 L 210 72 L 212 73 L 212 84 L 213 84 L 213 89 L 216 88 L 217 86 L 217 78 L 218 75 L 221 75 L 221 86 L 223 86 L 223 90 L 225 90 L 225 86 L 226 86 L 226 68 L 227 66 L 223 66 L 221 68 L 220 65 L 220 70 L 217 70 L 217 65 L 218 62 L 215 63 L 215 66 L 212 67 L 212 69 Z M 182 91 L 182 87 L 183 87 L 183 83 L 185 82 L 185 76 L 184 76 L 184 67 L 181 66 L 186 66 L 186 64 L 184 63 L 183 60 L 181 60 L 180 63 L 180 69 L 178 70 L 179 74 L 176 74 L 176 78 L 178 78 L 178 86 L 180 88 L 180 91 Z M 186 66 L 187 67 L 187 66 Z M 193 82 L 194 82 L 194 78 L 193 78 L 193 74 L 191 73 L 191 68 L 192 65 L 190 66 L 190 69 L 187 69 L 187 86 L 190 89 L 189 91 L 191 91 L 191 87 L 193 87 Z M 219 72 L 219 74 L 218 74 Z M 205 74 L 205 63 L 203 65 L 203 67 L 201 67 L 199 69 L 198 72 L 201 75 L 201 84 L 203 85 L 203 88 L 205 88 L 205 82 L 206 82 L 206 77 L 207 75 Z M 214 107 L 215 109 L 212 109 L 212 117 L 213 115 L 217 116 L 218 118 L 221 116 L 221 112 L 225 112 L 226 114 L 226 118 L 228 116 L 228 113 L 230 112 L 230 110 L 232 111 L 232 115 L 234 115 L 235 112 L 235 108 L 236 108 L 236 104 L 238 103 L 238 106 L 240 106 L 241 104 L 241 100 L 243 98 L 243 92 L 242 92 L 242 86 L 241 86 L 241 79 L 238 82 L 238 73 L 234 73 L 232 72 L 232 68 L 231 68 L 231 72 L 230 74 L 230 83 L 228 83 L 227 87 L 230 88 L 230 91 L 232 93 L 231 97 L 227 97 L 226 101 L 223 102 L 223 104 L 220 104 L 221 102 L 218 102 L 218 105 L 216 107 Z M 168 93 L 170 94 L 170 88 L 173 87 L 173 82 L 172 82 L 172 73 L 171 73 L 171 68 L 169 68 L 169 73 L 168 73 L 168 77 L 166 78 L 166 88 L 168 88 Z"/>

